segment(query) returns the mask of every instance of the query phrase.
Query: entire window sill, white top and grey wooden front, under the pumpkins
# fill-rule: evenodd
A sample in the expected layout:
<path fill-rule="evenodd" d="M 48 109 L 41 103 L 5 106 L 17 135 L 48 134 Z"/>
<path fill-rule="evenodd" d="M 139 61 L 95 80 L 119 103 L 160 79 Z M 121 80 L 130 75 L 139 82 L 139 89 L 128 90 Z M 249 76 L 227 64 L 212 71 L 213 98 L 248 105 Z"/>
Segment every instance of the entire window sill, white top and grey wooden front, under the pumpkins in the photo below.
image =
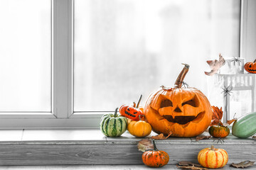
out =
<path fill-rule="evenodd" d="M 122 137 L 105 137 L 97 129 L 0 130 L 0 165 L 143 164 L 142 152 L 137 150 L 139 140 L 129 132 Z M 158 149 L 169 153 L 169 164 L 176 164 L 174 160 L 197 162 L 197 153 L 210 145 L 227 150 L 228 164 L 254 160 L 255 144 L 252 138 L 232 135 L 222 144 L 175 137 L 156 141 Z"/>

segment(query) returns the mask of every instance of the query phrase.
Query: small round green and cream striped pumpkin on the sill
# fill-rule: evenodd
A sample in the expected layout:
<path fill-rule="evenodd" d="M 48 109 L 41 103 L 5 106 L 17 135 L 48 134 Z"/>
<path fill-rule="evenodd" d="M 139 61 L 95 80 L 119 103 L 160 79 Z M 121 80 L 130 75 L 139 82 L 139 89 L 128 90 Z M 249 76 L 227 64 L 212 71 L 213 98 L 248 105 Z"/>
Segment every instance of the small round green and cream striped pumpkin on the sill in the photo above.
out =
<path fill-rule="evenodd" d="M 113 114 L 102 115 L 100 121 L 100 130 L 108 137 L 118 137 L 127 130 L 127 118 L 117 115 L 117 110 Z"/>

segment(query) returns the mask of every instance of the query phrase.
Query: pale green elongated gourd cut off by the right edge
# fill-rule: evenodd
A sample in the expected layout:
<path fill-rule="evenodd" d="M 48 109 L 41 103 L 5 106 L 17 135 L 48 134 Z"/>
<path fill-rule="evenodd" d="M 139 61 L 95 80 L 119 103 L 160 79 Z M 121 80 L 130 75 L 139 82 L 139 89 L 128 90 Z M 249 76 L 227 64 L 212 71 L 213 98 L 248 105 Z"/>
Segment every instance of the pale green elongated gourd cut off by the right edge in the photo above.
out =
<path fill-rule="evenodd" d="M 232 126 L 232 135 L 247 138 L 256 133 L 256 112 L 242 115 Z"/>

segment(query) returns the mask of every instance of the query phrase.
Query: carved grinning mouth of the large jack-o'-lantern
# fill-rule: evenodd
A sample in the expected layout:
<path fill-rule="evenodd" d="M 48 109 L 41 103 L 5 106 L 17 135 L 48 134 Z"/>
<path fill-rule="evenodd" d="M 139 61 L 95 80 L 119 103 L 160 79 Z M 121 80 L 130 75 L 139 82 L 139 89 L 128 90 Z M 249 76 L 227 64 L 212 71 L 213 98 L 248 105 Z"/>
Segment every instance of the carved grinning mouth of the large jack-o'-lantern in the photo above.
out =
<path fill-rule="evenodd" d="M 200 121 L 203 118 L 204 114 L 205 114 L 205 112 L 201 112 L 196 116 L 193 116 L 193 115 L 176 115 L 173 118 L 172 115 L 163 115 L 163 117 L 171 123 L 178 123 L 180 125 L 185 125 L 186 123 L 189 123 L 191 121 L 193 121 L 195 123 Z"/>

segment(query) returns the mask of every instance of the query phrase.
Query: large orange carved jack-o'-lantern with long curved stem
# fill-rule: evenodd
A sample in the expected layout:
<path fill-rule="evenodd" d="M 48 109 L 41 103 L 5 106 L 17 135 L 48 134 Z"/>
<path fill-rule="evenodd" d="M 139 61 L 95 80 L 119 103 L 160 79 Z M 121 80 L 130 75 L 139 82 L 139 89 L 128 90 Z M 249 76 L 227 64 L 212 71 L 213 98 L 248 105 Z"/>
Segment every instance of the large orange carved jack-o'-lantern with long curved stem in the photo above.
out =
<path fill-rule="evenodd" d="M 210 125 L 212 110 L 206 96 L 195 88 L 181 88 L 189 65 L 178 75 L 174 88 L 153 92 L 146 101 L 144 115 L 154 132 L 174 137 L 195 137 Z"/>

